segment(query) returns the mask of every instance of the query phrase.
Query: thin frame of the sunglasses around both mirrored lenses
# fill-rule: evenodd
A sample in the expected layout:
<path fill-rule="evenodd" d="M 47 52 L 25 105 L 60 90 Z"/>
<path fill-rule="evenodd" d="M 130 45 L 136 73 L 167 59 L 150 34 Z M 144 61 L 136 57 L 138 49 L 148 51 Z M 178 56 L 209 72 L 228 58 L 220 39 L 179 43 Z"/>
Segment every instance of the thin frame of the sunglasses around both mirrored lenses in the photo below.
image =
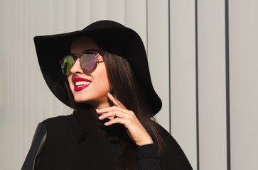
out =
<path fill-rule="evenodd" d="M 101 54 L 100 52 L 98 52 L 98 51 L 87 50 L 87 51 L 83 52 L 82 55 L 89 54 L 89 53 L 93 53 L 93 54 L 96 55 L 96 62 L 95 62 L 95 64 L 94 64 L 94 67 L 96 66 L 97 63 L 104 62 L 104 60 L 103 60 L 103 61 L 97 60 L 97 57 L 99 57 L 100 55 L 102 56 L 102 54 Z M 73 67 L 74 64 L 75 64 L 75 62 L 76 62 L 77 60 L 79 60 L 79 62 L 80 62 L 80 57 L 82 57 L 82 55 L 65 55 L 65 57 L 72 57 L 72 59 L 73 59 L 72 67 Z M 65 59 L 65 57 L 63 57 L 63 58 L 60 60 L 60 67 L 61 67 L 62 72 L 63 72 L 62 63 L 63 63 L 63 60 Z M 94 67 L 92 67 L 92 69 L 93 69 Z M 92 70 L 92 69 L 90 69 L 90 70 L 85 70 L 85 69 L 83 69 L 82 66 L 81 66 L 81 64 L 80 64 L 80 69 L 82 69 L 83 72 L 89 72 L 89 71 Z M 70 72 L 70 73 L 71 73 L 71 72 Z M 69 73 L 69 74 L 70 74 L 70 73 Z M 64 72 L 63 72 L 63 74 L 64 74 L 65 76 L 68 76 L 68 75 L 69 75 L 69 74 L 65 74 Z"/>

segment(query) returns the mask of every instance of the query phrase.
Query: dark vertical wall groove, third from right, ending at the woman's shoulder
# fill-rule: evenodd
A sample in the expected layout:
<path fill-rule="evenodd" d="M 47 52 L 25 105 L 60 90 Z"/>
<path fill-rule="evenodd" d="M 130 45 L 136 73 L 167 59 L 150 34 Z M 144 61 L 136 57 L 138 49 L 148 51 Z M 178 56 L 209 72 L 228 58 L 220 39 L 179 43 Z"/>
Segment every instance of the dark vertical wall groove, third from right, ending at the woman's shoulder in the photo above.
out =
<path fill-rule="evenodd" d="M 170 43 L 170 0 L 168 0 L 168 101 L 169 133 L 171 133 L 171 43 Z"/>

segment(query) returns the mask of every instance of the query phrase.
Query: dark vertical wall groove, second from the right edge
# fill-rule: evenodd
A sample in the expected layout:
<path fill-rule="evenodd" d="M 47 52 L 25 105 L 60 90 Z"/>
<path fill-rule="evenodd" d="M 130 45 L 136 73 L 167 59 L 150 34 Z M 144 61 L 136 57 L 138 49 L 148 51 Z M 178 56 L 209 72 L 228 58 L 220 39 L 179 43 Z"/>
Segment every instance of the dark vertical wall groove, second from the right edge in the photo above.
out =
<path fill-rule="evenodd" d="M 200 169 L 199 147 L 199 85 L 198 85 L 198 0 L 195 0 L 195 89 L 196 89 L 196 161 Z"/>

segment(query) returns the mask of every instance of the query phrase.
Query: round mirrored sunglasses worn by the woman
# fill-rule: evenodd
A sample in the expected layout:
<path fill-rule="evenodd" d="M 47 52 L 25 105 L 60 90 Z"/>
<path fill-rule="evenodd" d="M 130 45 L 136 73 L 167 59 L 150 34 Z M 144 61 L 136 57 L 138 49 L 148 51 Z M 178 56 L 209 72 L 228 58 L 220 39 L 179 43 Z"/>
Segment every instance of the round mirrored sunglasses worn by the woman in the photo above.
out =
<path fill-rule="evenodd" d="M 89 72 L 95 67 L 96 63 L 103 62 L 97 60 L 99 55 L 99 52 L 92 51 L 84 52 L 82 55 L 66 55 L 62 60 L 60 60 L 62 72 L 65 75 L 70 74 L 72 66 L 75 64 L 77 59 L 80 62 L 80 68 L 84 72 Z"/>

